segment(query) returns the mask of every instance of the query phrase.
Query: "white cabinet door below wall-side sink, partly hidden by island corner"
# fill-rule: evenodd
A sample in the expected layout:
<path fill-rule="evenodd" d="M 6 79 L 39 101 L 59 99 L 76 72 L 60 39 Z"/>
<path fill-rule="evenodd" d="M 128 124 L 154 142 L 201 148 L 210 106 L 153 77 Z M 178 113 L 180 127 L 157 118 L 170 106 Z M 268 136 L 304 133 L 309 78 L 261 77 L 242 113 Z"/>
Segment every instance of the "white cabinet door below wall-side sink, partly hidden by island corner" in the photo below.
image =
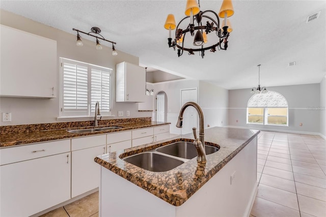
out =
<path fill-rule="evenodd" d="M 101 166 L 94 158 L 105 154 L 105 145 L 71 153 L 71 198 L 73 198 L 99 186 Z"/>

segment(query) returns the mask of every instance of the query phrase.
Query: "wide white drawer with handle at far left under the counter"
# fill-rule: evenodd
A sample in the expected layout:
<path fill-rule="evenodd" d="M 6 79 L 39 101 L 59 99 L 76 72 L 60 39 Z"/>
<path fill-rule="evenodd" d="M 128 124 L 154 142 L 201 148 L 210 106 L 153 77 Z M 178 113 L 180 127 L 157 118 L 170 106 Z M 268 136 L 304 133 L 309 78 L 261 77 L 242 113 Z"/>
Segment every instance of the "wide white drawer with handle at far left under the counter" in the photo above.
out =
<path fill-rule="evenodd" d="M 37 143 L 0 149 L 0 165 L 45 157 L 70 151 L 70 140 Z"/>

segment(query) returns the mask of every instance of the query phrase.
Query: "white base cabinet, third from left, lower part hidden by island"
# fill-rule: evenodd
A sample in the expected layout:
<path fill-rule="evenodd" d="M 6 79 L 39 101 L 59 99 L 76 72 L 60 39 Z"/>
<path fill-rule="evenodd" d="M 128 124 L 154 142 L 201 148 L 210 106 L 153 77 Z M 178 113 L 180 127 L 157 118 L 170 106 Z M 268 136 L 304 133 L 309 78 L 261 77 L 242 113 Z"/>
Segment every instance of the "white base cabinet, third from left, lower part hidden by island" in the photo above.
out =
<path fill-rule="evenodd" d="M 131 148 L 131 131 L 114 132 L 106 135 L 106 152 Z"/>

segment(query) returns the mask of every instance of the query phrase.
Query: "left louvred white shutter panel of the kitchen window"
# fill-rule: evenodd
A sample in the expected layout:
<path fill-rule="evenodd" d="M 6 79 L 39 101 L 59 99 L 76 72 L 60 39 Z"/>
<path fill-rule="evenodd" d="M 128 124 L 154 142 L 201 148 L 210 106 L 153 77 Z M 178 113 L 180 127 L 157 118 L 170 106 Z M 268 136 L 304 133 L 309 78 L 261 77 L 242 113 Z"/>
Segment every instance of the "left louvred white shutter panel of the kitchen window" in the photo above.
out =
<path fill-rule="evenodd" d="M 77 64 L 63 63 L 63 109 L 87 111 L 88 69 Z"/>

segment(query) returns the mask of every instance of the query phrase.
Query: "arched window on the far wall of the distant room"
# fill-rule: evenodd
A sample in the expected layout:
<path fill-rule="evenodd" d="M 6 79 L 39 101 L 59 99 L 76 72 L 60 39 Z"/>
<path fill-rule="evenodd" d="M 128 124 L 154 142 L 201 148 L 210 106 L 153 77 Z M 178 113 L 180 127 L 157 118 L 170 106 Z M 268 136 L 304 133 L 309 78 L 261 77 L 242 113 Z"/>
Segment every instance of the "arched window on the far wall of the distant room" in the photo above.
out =
<path fill-rule="evenodd" d="M 288 104 L 275 91 L 253 95 L 247 105 L 247 124 L 288 126 Z"/>

